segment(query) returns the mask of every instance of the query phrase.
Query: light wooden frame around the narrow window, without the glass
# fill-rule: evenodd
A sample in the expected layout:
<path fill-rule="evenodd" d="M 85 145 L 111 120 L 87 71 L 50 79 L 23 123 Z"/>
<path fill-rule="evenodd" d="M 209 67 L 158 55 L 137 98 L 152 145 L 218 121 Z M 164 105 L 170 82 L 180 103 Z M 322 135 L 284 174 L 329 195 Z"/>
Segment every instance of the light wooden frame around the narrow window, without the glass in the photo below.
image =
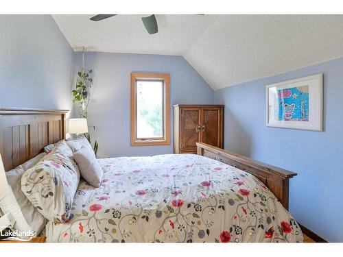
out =
<path fill-rule="evenodd" d="M 137 138 L 137 80 L 163 80 L 163 139 Z M 131 73 L 131 145 L 170 145 L 170 75 L 167 73 Z"/>

